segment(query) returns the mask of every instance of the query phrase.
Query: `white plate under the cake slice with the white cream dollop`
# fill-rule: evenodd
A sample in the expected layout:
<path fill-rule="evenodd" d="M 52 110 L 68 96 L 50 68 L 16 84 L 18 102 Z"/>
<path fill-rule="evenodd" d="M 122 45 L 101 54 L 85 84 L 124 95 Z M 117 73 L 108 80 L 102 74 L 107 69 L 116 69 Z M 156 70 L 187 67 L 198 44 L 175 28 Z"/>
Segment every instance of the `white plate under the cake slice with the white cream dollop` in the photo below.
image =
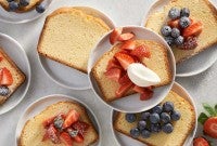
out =
<path fill-rule="evenodd" d="M 150 109 L 150 108 L 154 107 L 155 105 L 157 105 L 158 103 L 161 103 L 164 99 L 164 97 L 168 94 L 168 92 L 170 91 L 171 85 L 174 83 L 174 79 L 175 79 L 175 72 L 176 72 L 176 64 L 175 64 L 174 54 L 171 53 L 170 48 L 167 45 L 167 43 L 164 41 L 164 39 L 162 39 L 162 37 L 159 37 L 155 32 L 153 32 L 149 29 L 145 29 L 143 27 L 139 27 L 139 26 L 124 27 L 124 32 L 131 32 L 131 31 L 136 35 L 136 39 L 154 40 L 166 47 L 166 49 L 168 50 L 167 52 L 168 52 L 168 57 L 169 57 L 169 65 L 170 65 L 170 69 L 171 69 L 173 81 L 167 85 L 156 88 L 154 90 L 154 96 L 149 101 L 140 101 L 139 94 L 132 94 L 127 97 L 123 97 L 117 101 L 106 103 L 102 97 L 102 93 L 99 90 L 97 81 L 94 80 L 94 78 L 92 77 L 92 75 L 90 72 L 91 72 L 91 69 L 94 66 L 95 62 L 105 52 L 107 52 L 112 48 L 110 40 L 108 40 L 110 35 L 111 35 L 111 31 L 110 31 L 99 41 L 99 43 L 97 44 L 94 50 L 92 50 L 91 55 L 90 55 L 91 57 L 89 58 L 89 63 L 88 63 L 88 75 L 89 75 L 89 80 L 91 82 L 91 85 L 92 85 L 92 89 L 93 89 L 95 95 L 100 99 L 102 99 L 106 105 L 108 105 L 110 107 L 112 107 L 116 110 L 119 110 L 119 111 L 124 111 L 124 112 L 143 111 L 143 110 Z"/>

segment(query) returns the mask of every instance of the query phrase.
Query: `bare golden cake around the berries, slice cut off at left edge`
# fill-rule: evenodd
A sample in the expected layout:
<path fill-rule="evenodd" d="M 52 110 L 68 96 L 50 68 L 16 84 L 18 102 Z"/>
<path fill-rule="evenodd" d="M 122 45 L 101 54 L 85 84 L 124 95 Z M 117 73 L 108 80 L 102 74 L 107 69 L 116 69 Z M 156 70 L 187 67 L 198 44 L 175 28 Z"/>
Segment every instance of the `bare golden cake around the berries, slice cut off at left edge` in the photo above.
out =
<path fill-rule="evenodd" d="M 9 85 L 10 93 L 7 96 L 0 95 L 0 105 L 3 104 L 25 81 L 25 75 L 15 65 L 15 63 L 5 54 L 5 52 L 0 48 L 0 69 L 7 68 L 10 70 L 13 83 Z"/>

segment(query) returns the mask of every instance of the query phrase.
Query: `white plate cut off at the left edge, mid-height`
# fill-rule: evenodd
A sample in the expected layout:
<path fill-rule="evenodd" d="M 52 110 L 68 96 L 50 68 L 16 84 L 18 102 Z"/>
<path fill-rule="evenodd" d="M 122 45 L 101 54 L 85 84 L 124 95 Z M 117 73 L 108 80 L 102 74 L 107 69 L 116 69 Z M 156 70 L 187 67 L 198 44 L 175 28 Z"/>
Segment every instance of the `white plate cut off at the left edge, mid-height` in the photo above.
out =
<path fill-rule="evenodd" d="M 14 108 L 26 95 L 30 83 L 30 66 L 26 52 L 21 44 L 13 38 L 0 34 L 0 48 L 12 58 L 18 68 L 25 74 L 25 82 L 0 106 L 0 115 Z"/>

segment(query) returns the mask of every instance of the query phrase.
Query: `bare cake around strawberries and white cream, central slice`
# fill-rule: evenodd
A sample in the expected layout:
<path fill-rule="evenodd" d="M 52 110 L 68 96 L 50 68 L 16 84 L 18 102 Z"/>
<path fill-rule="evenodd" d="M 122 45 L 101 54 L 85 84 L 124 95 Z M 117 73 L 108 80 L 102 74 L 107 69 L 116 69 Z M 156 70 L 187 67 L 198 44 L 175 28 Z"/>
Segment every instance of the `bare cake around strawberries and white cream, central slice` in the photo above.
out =
<path fill-rule="evenodd" d="M 168 84 L 171 81 L 170 66 L 167 55 L 167 49 L 151 40 L 136 40 L 136 45 L 145 44 L 150 48 L 151 58 L 143 58 L 142 62 L 146 65 L 148 68 L 155 71 L 159 78 L 161 82 L 156 87 L 162 87 Z M 119 84 L 116 81 L 108 79 L 104 72 L 106 71 L 107 63 L 113 58 L 116 52 L 119 52 L 119 45 L 114 45 L 111 51 L 106 52 L 93 66 L 91 74 L 97 80 L 97 83 L 103 94 L 103 97 L 107 102 L 117 99 L 115 91 L 119 88 Z M 126 95 L 132 94 L 135 92 L 129 91 Z M 124 97 L 124 96 L 123 96 Z"/>

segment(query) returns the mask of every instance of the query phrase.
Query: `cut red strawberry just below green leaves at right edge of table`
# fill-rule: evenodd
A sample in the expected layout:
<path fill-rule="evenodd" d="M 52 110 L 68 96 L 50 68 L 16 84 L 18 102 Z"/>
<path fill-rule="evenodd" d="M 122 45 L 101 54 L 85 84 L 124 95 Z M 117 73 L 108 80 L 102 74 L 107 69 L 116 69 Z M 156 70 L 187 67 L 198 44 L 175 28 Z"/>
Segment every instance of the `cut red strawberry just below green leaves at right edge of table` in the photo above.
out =
<path fill-rule="evenodd" d="M 217 117 L 208 118 L 204 122 L 204 132 L 213 138 L 217 138 Z"/>

